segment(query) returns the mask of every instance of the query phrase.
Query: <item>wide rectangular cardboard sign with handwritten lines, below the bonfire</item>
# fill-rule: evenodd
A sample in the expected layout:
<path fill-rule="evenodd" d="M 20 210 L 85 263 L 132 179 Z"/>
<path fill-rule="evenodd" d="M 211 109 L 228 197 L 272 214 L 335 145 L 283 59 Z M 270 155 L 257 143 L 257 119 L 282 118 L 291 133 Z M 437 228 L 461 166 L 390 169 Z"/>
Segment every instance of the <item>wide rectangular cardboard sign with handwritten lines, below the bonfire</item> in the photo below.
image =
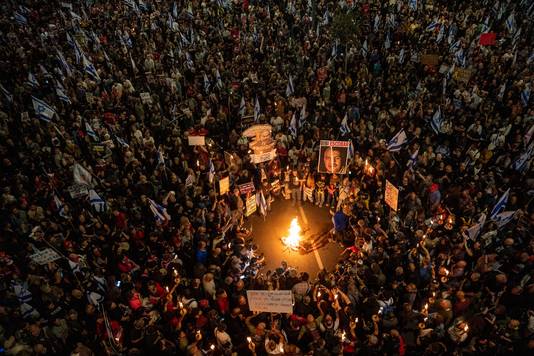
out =
<path fill-rule="evenodd" d="M 293 295 L 290 290 L 248 290 L 251 311 L 293 313 Z"/>

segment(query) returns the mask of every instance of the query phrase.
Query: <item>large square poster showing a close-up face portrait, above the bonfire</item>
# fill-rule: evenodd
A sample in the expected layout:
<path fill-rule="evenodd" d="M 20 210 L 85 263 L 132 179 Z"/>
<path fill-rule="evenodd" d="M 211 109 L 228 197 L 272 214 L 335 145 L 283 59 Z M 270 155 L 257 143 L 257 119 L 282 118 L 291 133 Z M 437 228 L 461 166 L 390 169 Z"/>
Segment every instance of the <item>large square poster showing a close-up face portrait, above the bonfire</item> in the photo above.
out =
<path fill-rule="evenodd" d="M 349 146 L 349 141 L 321 140 L 317 171 L 319 173 L 346 174 Z"/>

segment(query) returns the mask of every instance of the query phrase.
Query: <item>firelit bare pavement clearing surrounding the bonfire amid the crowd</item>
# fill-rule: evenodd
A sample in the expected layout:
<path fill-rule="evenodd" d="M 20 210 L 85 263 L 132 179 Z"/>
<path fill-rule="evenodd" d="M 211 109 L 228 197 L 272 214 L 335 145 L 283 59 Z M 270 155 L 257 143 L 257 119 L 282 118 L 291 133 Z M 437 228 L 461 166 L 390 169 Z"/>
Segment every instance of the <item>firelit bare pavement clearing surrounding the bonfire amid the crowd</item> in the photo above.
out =
<path fill-rule="evenodd" d="M 321 269 L 321 265 L 331 270 L 342 251 L 339 245 L 329 243 L 316 252 L 301 254 L 288 250 L 282 244 L 280 238 L 288 234 L 289 224 L 294 217 L 298 218 L 299 224 L 305 231 L 304 238 L 332 228 L 332 217 L 328 208 L 318 208 L 309 202 L 302 203 L 299 208 L 291 206 L 290 200 L 276 200 L 265 220 L 254 215 L 247 222 L 247 226 L 252 224 L 254 241 L 259 251 L 265 254 L 266 266 L 263 272 L 280 266 L 282 260 L 299 271 L 310 273 L 312 278 Z"/>

